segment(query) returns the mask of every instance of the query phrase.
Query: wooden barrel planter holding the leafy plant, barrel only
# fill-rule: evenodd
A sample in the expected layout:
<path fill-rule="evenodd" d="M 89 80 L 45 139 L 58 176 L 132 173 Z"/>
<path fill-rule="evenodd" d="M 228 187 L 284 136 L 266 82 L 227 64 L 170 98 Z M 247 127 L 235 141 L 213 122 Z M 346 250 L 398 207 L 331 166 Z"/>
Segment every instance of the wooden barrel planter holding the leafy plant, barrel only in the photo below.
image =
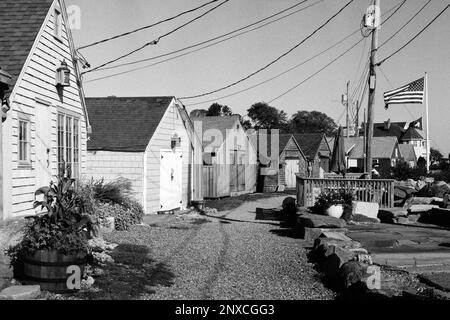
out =
<path fill-rule="evenodd" d="M 45 291 L 60 293 L 76 291 L 76 288 L 70 289 L 67 286 L 67 280 L 73 274 L 74 267 L 71 266 L 79 268 L 81 280 L 86 261 L 87 254 L 85 252 L 65 255 L 57 250 L 38 250 L 33 255 L 23 258 L 24 282 L 39 284 L 41 290 Z"/>

